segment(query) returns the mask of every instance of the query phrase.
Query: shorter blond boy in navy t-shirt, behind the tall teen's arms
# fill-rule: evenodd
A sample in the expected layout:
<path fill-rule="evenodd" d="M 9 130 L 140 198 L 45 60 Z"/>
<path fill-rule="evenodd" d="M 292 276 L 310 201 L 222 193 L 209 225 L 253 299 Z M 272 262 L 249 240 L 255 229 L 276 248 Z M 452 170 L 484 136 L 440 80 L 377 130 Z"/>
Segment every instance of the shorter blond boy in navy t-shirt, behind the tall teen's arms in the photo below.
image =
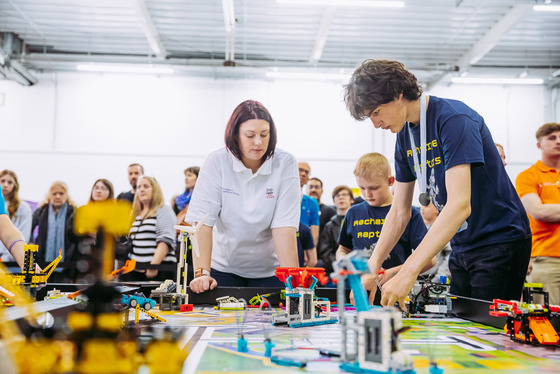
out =
<path fill-rule="evenodd" d="M 393 202 L 390 187 L 394 184 L 395 177 L 391 175 L 391 166 L 385 156 L 379 153 L 363 155 L 356 164 L 354 176 L 365 201 L 346 212 L 338 237 L 337 260 L 354 249 L 373 251 Z M 386 270 L 380 277 L 380 284 L 399 271 L 400 266 L 426 235 L 426 225 L 418 209 L 411 208 L 411 217 L 403 234 L 382 262 L 381 267 Z M 431 265 L 430 263 L 429 266 Z M 375 293 L 371 292 L 370 303 L 373 303 L 374 296 Z"/>

